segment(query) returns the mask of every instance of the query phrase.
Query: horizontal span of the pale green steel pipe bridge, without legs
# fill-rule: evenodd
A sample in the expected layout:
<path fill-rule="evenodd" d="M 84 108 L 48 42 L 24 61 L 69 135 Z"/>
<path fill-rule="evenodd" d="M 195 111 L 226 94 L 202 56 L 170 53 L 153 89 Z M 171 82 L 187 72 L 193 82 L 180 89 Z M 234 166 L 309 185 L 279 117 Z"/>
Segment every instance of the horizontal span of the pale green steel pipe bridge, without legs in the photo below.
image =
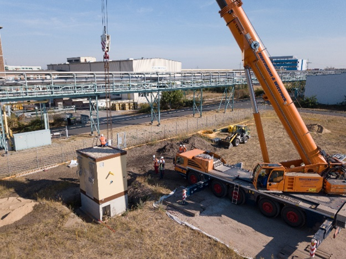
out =
<path fill-rule="evenodd" d="M 283 82 L 305 80 L 307 75 L 326 71 L 282 71 Z M 253 76 L 253 84 L 258 84 Z M 0 102 L 83 98 L 105 93 L 143 93 L 199 90 L 246 84 L 243 70 L 188 72 L 3 72 L 0 73 Z"/>

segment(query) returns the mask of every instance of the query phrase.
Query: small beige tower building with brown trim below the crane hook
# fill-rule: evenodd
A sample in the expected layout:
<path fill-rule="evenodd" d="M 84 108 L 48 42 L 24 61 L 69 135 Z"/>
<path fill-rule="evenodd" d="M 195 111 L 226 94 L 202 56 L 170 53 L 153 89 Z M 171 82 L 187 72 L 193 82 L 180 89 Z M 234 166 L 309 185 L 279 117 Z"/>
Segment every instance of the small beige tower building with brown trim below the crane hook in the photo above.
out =
<path fill-rule="evenodd" d="M 126 151 L 113 147 L 77 150 L 81 209 L 98 220 L 128 208 Z"/>

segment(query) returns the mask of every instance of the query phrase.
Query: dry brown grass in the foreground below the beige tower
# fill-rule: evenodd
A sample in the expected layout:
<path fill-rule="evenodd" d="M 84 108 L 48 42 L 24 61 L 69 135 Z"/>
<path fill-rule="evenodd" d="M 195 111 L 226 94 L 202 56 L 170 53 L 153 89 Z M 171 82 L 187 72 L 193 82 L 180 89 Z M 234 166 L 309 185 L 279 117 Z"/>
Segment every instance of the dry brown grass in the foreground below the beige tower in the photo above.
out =
<path fill-rule="evenodd" d="M 41 199 L 32 213 L 4 226 L 1 258 L 242 258 L 226 246 L 176 224 L 151 202 L 142 209 L 64 228 L 68 213 L 60 202 Z"/>

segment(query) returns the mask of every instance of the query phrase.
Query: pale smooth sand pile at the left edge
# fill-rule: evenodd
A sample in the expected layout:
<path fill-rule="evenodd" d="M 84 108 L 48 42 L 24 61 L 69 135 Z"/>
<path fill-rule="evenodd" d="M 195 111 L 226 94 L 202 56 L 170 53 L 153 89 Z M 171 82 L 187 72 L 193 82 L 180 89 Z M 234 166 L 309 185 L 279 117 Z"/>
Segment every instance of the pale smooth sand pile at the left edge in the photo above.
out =
<path fill-rule="evenodd" d="M 38 202 L 20 197 L 0 199 L 0 227 L 20 220 L 33 211 L 36 204 Z"/>

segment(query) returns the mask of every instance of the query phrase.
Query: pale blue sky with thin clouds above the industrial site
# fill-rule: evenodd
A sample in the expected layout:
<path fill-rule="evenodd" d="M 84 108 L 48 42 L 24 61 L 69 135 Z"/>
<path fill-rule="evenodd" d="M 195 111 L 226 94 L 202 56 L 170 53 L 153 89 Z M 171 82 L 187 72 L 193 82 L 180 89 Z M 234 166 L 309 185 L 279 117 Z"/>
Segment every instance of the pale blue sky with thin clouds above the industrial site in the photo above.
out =
<path fill-rule="evenodd" d="M 270 55 L 346 68 L 345 0 L 243 0 L 243 8 Z M 108 0 L 110 58 L 239 69 L 240 49 L 218 11 L 215 0 Z M 101 0 L 0 0 L 0 26 L 8 65 L 46 69 L 67 57 L 103 57 Z"/>

